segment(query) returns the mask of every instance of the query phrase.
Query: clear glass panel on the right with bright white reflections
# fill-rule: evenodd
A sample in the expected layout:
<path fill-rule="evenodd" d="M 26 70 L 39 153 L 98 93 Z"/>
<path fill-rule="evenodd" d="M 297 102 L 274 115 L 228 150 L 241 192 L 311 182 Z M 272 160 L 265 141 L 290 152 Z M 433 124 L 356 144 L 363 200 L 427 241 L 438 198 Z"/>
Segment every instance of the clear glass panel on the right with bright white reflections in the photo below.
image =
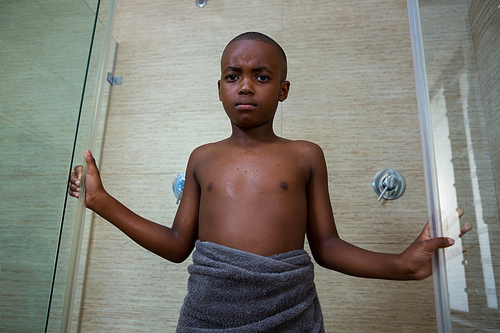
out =
<path fill-rule="evenodd" d="M 445 252 L 455 332 L 500 328 L 499 6 L 420 1 L 442 219 L 461 207 L 474 225 L 465 254 Z"/>

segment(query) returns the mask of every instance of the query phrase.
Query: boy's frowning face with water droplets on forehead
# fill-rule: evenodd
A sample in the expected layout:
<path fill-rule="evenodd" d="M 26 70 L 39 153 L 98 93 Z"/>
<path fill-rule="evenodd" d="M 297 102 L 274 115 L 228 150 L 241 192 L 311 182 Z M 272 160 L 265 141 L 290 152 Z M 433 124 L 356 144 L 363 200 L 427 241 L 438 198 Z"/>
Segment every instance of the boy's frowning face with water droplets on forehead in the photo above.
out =
<path fill-rule="evenodd" d="M 288 96 L 285 64 L 279 51 L 264 42 L 240 40 L 222 55 L 219 99 L 229 119 L 244 128 L 274 119 L 278 102 Z"/>

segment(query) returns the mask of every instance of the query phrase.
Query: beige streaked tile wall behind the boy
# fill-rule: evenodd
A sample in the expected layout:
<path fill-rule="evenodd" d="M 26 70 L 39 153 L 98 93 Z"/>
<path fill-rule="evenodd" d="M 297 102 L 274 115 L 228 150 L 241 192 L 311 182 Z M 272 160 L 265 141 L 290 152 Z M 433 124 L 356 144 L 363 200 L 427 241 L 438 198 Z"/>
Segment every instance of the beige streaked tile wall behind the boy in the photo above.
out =
<path fill-rule="evenodd" d="M 173 178 L 198 145 L 229 135 L 217 97 L 220 54 L 237 34 L 261 31 L 287 52 L 291 91 L 275 129 L 320 144 L 336 222 L 348 241 L 402 251 L 426 221 L 406 4 L 401 1 L 123 1 L 102 176 L 137 213 L 170 225 Z M 373 176 L 407 181 L 377 202 Z M 95 219 L 82 332 L 174 330 L 186 267 L 156 257 Z M 328 332 L 434 332 L 432 281 L 387 282 L 322 268 L 316 283 Z"/>

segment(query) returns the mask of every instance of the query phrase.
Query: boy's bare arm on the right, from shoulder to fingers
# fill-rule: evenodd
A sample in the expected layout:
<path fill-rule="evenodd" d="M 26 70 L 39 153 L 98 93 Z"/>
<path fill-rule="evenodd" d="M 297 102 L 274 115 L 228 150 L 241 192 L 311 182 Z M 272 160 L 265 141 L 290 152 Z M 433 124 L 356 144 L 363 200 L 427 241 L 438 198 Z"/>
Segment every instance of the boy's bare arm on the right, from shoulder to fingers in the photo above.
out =
<path fill-rule="evenodd" d="M 345 274 L 391 280 L 421 280 L 432 274 L 431 258 L 438 248 L 453 245 L 447 237 L 431 238 L 427 224 L 420 236 L 401 254 L 364 250 L 342 240 L 335 227 L 328 192 L 328 174 L 323 152 L 311 144 L 307 153 L 311 176 L 307 185 L 307 237 L 316 262 Z M 461 216 L 462 210 L 458 211 Z M 460 236 L 472 228 L 460 228 Z"/>

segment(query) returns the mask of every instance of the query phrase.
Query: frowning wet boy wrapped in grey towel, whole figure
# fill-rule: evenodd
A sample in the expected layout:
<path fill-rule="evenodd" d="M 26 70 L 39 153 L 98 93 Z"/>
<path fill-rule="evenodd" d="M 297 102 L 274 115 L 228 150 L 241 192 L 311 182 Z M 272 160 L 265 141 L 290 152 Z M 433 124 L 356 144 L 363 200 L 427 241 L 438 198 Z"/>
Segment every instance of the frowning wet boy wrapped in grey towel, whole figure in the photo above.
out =
<path fill-rule="evenodd" d="M 382 279 L 423 279 L 431 256 L 453 244 L 428 226 L 399 255 L 366 251 L 340 239 L 321 148 L 276 136 L 273 120 L 290 89 L 286 56 L 271 38 L 234 38 L 221 59 L 219 99 L 229 138 L 196 148 L 172 228 L 145 220 L 103 188 L 90 152 L 86 206 L 139 245 L 173 261 L 193 253 L 178 332 L 323 332 L 313 264 Z M 70 177 L 78 197 L 82 167 Z M 463 211 L 459 211 L 459 215 Z M 462 226 L 461 234 L 470 230 Z"/>

